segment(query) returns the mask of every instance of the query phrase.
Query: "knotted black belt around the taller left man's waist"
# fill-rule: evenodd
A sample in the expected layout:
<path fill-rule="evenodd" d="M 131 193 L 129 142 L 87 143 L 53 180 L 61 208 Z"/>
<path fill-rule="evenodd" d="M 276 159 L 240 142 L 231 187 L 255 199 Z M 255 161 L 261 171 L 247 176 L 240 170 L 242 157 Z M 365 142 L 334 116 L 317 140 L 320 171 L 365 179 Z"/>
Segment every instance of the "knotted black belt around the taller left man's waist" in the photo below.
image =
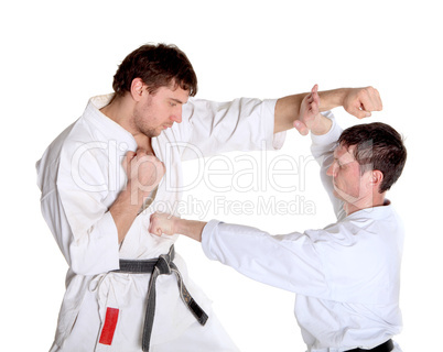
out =
<path fill-rule="evenodd" d="M 204 326 L 208 319 L 206 312 L 197 305 L 197 302 L 194 300 L 194 298 L 191 297 L 188 290 L 186 289 L 179 268 L 172 262 L 174 260 L 174 256 L 175 251 L 174 246 L 172 245 L 168 254 L 162 254 L 154 260 L 120 260 L 120 270 L 114 271 L 117 273 L 152 274 L 148 287 L 148 306 L 143 324 L 143 338 L 141 342 L 143 351 L 149 351 L 149 344 L 151 341 L 152 324 L 155 314 L 155 282 L 159 275 L 171 275 L 172 273 L 174 273 L 177 278 L 180 296 L 182 297 L 182 300 L 186 305 L 186 307 L 194 315 L 195 319 L 197 319 L 197 321 L 202 326 Z"/>

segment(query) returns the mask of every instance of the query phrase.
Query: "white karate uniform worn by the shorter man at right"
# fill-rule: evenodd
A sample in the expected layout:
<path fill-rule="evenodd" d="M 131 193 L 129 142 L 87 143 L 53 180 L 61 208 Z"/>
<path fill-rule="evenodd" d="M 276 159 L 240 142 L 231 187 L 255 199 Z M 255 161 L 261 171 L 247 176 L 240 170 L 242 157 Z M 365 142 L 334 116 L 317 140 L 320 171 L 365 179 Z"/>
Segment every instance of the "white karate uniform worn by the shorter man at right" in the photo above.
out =
<path fill-rule="evenodd" d="M 212 220 L 203 250 L 261 283 L 296 294 L 294 314 L 311 352 L 371 349 L 398 334 L 402 222 L 386 205 L 346 217 L 333 196 L 326 169 L 342 132 L 312 135 L 312 152 L 338 221 L 321 230 L 270 235 L 255 228 Z M 400 351 L 396 344 L 393 351 Z"/>

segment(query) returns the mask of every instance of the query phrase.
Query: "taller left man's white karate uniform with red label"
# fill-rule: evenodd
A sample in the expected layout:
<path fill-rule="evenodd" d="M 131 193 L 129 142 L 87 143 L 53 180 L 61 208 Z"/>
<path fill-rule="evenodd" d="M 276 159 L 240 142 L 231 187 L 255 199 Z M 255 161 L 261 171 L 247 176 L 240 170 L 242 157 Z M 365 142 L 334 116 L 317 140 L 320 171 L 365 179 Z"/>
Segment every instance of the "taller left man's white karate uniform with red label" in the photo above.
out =
<path fill-rule="evenodd" d="M 183 122 L 152 139 L 166 173 L 152 206 L 136 218 L 119 246 L 108 209 L 127 184 L 121 161 L 128 151 L 137 150 L 137 143 L 99 111 L 110 98 L 91 98 L 84 114 L 54 140 L 36 165 L 42 213 L 69 266 L 51 351 L 141 351 L 150 274 L 109 272 L 119 268 L 120 258 L 165 254 L 177 239 L 151 235 L 148 228 L 152 208 L 180 201 L 182 161 L 260 150 L 263 143 L 267 148 L 278 148 L 284 141 L 284 133 L 273 135 L 275 100 L 242 98 L 217 103 L 190 99 L 183 107 Z M 187 351 L 191 346 L 182 343 L 181 337 L 187 342 L 195 339 L 192 351 L 236 351 L 179 254 L 174 263 L 209 319 L 205 327 L 199 326 L 180 298 L 175 276 L 159 276 L 151 351 Z M 111 344 L 104 344 L 99 338 L 108 308 L 118 309 L 118 319 Z"/>

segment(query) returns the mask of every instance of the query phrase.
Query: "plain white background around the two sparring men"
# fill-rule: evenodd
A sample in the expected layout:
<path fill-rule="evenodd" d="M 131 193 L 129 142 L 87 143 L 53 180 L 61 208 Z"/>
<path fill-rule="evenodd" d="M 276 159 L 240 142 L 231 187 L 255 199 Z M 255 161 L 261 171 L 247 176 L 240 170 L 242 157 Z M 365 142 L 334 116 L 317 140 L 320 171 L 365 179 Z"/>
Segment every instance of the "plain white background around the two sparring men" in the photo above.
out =
<path fill-rule="evenodd" d="M 147 42 L 165 42 L 188 55 L 202 98 L 279 98 L 314 84 L 321 90 L 379 89 L 385 109 L 371 120 L 392 124 L 409 148 L 404 173 L 389 195 L 408 231 L 404 329 L 397 341 L 404 351 L 441 351 L 440 9 L 429 0 L 3 2 L 0 349 L 48 350 L 64 294 L 67 265 L 40 213 L 35 162 L 82 114 L 89 97 L 111 91 L 115 70 L 129 52 Z M 344 127 L 357 122 L 341 109 L 336 116 Z M 269 162 L 277 155 L 307 156 L 309 139 L 290 131 L 283 148 L 268 154 Z M 272 233 L 324 227 L 334 218 L 317 170 L 311 163 L 304 172 L 305 190 L 279 193 L 266 183 L 263 191 L 222 196 L 290 201 L 299 195 L 315 204 L 315 215 L 217 210 L 205 220 L 216 217 Z M 299 185 L 300 175 L 294 177 L 285 179 Z M 188 195 L 210 201 L 216 194 L 202 182 Z M 304 351 L 292 314 L 293 294 L 209 262 L 195 242 L 181 239 L 176 246 L 242 351 Z"/>

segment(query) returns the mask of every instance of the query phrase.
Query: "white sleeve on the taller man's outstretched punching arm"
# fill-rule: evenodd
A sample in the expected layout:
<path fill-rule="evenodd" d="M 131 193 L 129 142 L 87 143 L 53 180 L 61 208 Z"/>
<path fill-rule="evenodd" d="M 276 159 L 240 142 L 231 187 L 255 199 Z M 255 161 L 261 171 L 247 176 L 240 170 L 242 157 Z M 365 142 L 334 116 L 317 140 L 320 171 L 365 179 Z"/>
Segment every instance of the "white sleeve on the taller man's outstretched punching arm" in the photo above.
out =
<path fill-rule="evenodd" d="M 252 98 L 228 102 L 190 99 L 183 107 L 181 127 L 186 130 L 190 147 L 184 150 L 182 160 L 231 151 L 280 148 L 285 132 L 273 133 L 275 102 Z"/>

